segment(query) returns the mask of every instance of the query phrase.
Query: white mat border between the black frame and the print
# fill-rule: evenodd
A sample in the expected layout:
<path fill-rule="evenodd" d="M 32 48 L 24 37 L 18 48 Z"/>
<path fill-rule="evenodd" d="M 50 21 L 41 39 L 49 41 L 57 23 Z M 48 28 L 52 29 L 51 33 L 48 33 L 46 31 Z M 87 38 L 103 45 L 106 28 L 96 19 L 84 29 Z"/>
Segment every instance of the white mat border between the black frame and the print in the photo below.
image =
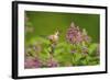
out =
<path fill-rule="evenodd" d="M 24 70 L 24 11 L 48 11 L 48 12 L 67 12 L 67 13 L 90 13 L 100 14 L 100 65 L 99 66 L 85 66 L 85 67 L 65 67 L 65 68 L 44 68 L 44 69 L 25 69 Z M 65 7 L 50 7 L 50 5 L 31 5 L 31 4 L 19 4 L 19 77 L 24 76 L 42 76 L 42 75 L 57 75 L 57 73 L 78 73 L 78 72 L 94 72 L 105 71 L 105 14 L 106 11 L 101 9 L 90 8 L 65 8 Z M 102 38 L 102 39 L 101 39 Z"/>

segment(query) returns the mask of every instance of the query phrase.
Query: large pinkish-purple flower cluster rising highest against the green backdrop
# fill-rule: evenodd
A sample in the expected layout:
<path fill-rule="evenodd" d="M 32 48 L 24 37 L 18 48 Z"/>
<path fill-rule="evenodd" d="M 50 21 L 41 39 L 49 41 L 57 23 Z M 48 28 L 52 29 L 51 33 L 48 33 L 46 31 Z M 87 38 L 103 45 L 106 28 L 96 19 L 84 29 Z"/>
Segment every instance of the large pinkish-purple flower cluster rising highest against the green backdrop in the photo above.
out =
<path fill-rule="evenodd" d="M 87 35 L 86 30 L 82 31 L 79 30 L 79 26 L 75 26 L 74 22 L 72 22 L 69 28 L 66 33 L 66 39 L 67 42 L 72 44 L 79 44 L 82 42 L 90 42 L 90 37 Z"/>

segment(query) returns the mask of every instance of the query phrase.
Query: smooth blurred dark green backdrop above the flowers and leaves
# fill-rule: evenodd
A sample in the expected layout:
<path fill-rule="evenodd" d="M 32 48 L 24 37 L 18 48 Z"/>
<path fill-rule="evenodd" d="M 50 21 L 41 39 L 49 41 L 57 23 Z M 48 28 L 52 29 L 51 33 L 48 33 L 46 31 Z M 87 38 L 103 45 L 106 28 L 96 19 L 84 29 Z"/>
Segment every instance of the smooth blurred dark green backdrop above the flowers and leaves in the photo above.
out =
<path fill-rule="evenodd" d="M 59 42 L 65 41 L 66 31 L 72 22 L 75 22 L 79 28 L 86 28 L 88 35 L 94 43 L 99 43 L 99 14 L 84 14 L 84 13 L 58 13 L 58 12 L 40 12 L 25 11 L 29 19 L 28 24 L 34 28 L 32 33 L 25 34 L 25 42 L 40 35 L 48 36 L 59 31 Z"/>

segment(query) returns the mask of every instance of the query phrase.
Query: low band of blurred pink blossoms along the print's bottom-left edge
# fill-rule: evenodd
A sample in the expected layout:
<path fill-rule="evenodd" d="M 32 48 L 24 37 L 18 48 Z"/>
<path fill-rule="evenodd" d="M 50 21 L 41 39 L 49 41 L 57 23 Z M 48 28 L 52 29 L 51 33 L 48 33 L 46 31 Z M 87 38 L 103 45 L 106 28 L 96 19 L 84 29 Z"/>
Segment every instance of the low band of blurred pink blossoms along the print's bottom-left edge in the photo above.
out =
<path fill-rule="evenodd" d="M 41 67 L 57 67 L 58 62 L 54 59 L 48 59 L 47 62 L 43 64 L 40 59 L 33 57 L 26 57 L 24 60 L 24 68 L 41 68 Z"/>

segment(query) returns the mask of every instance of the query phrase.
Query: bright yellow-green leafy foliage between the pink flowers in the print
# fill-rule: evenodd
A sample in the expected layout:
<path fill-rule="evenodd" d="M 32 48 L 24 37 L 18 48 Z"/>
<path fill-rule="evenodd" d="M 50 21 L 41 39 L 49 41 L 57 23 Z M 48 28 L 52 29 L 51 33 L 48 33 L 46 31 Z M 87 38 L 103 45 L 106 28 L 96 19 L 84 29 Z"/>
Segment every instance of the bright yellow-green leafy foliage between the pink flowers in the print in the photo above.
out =
<path fill-rule="evenodd" d="M 40 46 L 42 49 L 38 53 L 35 53 L 35 50 L 32 48 L 30 50 L 31 55 L 33 57 L 38 57 L 38 59 L 43 62 L 43 67 L 45 67 L 45 64 L 50 59 L 51 56 L 57 62 L 61 67 L 66 66 L 92 66 L 99 64 L 99 56 L 97 56 L 97 46 L 98 44 L 89 44 L 88 45 L 88 53 L 82 53 L 82 45 L 72 45 L 66 42 L 58 43 L 55 46 L 55 52 L 50 53 L 51 49 L 51 43 L 47 38 L 43 37 L 36 37 L 34 39 L 31 39 L 29 45 L 36 45 Z M 26 45 L 26 47 L 29 46 Z M 72 53 L 72 49 L 75 49 L 75 53 Z"/>

